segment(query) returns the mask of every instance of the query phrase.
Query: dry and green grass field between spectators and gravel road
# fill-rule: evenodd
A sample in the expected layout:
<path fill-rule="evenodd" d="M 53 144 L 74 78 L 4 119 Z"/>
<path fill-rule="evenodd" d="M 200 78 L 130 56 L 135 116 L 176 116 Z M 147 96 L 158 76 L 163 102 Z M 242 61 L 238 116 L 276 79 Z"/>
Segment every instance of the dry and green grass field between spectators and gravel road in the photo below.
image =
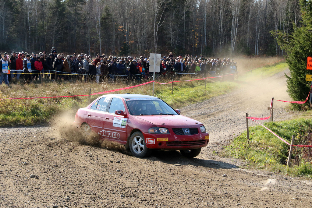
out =
<path fill-rule="evenodd" d="M 252 58 L 251 60 L 241 58 L 236 59 L 235 61 L 238 61 L 239 63 L 238 70 L 242 70 L 239 67 L 242 68 L 243 65 L 250 65 L 250 67 L 252 66 L 249 62 L 255 63 L 255 65 L 257 65 L 259 62 L 267 63 L 272 60 L 274 60 L 274 58 Z M 246 64 L 245 62 L 249 64 Z M 271 71 L 275 71 L 273 67 L 269 69 Z M 175 78 L 175 80 L 190 80 L 198 78 L 201 77 L 183 76 L 180 78 Z M 170 82 L 171 77 L 170 79 L 159 79 L 157 81 Z M 42 85 L 40 81 L 35 81 L 30 85 L 23 85 L 23 83 L 16 82 L 9 86 L 0 85 L 0 98 L 84 95 L 89 94 L 90 88 L 91 93 L 95 93 L 133 86 L 140 83 L 126 83 L 125 81 L 121 80 L 116 81 L 115 83 L 108 83 L 106 80 L 99 84 L 82 83 L 80 81 L 63 81 L 59 83 L 46 80 Z M 238 84 L 236 82 L 222 81 L 221 78 L 207 80 L 207 88 L 205 88 L 204 80 L 176 82 L 173 86 L 173 94 L 171 94 L 171 84 L 155 84 L 155 96 L 163 99 L 173 108 L 178 109 L 188 104 L 197 103 L 220 94 L 228 93 L 237 86 Z M 152 95 L 152 83 L 132 89 L 117 91 L 114 93 Z M 92 95 L 91 100 L 94 100 L 99 96 L 100 95 Z M 48 123 L 54 115 L 63 112 L 67 112 L 71 114 L 71 117 L 73 117 L 76 114 L 77 109 L 85 107 L 87 104 L 88 96 L 48 99 L 0 100 L 0 126 L 30 126 L 34 124 Z"/>

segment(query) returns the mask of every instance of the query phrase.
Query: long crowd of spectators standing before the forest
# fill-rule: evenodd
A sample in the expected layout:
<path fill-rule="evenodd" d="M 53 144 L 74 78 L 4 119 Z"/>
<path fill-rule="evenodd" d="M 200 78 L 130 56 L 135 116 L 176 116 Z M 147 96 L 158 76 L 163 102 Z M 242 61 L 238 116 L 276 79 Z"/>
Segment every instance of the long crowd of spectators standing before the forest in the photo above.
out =
<path fill-rule="evenodd" d="M 1 55 L 0 55 L 1 56 Z M 95 81 L 99 83 L 105 79 L 113 82 L 117 77 L 125 80 L 147 80 L 151 79 L 153 73 L 149 72 L 149 59 L 140 57 L 116 57 L 97 54 L 95 59 L 91 55 L 57 54 L 56 48 L 52 47 L 48 55 L 45 51 L 36 54 L 32 52 L 12 52 L 9 56 L 4 53 L 0 57 L 0 84 L 2 81 L 9 84 L 13 79 L 20 80 L 23 75 L 25 83 L 38 79 L 51 80 L 81 80 L 84 82 Z M 10 70 L 9 70 L 10 69 Z M 235 73 L 236 62 L 230 59 L 205 58 L 202 55 L 182 55 L 173 57 L 172 52 L 163 56 L 160 64 L 159 76 L 172 76 L 179 74 L 209 74 L 218 76 L 220 74 Z"/>

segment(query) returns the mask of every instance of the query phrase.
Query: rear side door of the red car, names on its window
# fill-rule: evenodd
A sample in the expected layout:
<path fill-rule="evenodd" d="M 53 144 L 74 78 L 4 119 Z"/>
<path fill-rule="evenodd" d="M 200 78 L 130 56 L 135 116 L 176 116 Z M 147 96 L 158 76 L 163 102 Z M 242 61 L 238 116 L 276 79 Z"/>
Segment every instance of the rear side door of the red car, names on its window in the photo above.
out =
<path fill-rule="evenodd" d="M 101 135 L 101 130 L 103 130 L 103 127 L 106 124 L 105 122 L 109 120 L 108 117 L 106 118 L 106 111 L 110 99 L 110 97 L 103 97 L 97 100 L 94 104 L 92 104 L 87 113 L 91 129 Z"/>

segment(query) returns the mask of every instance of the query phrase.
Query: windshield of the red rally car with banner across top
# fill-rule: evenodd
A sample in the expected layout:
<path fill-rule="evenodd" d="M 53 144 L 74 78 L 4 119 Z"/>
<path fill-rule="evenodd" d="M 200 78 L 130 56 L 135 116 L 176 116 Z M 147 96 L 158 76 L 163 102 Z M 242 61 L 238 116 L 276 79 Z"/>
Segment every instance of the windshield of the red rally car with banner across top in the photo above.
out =
<path fill-rule="evenodd" d="M 178 115 L 159 98 L 129 98 L 125 101 L 131 115 Z"/>

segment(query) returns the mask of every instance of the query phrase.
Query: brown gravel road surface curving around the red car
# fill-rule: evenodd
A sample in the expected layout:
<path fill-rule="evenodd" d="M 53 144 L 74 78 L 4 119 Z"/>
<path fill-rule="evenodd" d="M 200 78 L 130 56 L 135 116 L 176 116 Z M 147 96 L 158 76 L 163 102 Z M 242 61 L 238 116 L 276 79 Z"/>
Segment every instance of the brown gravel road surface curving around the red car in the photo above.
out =
<path fill-rule="evenodd" d="M 245 170 L 242 161 L 212 154 L 246 128 L 246 112 L 268 116 L 271 97 L 289 100 L 283 73 L 241 86 L 181 109 L 210 133 L 192 159 L 178 151 L 136 158 L 75 142 L 54 125 L 1 128 L 0 207 L 312 207 L 311 181 Z M 275 101 L 274 120 L 298 114 L 286 105 Z"/>

